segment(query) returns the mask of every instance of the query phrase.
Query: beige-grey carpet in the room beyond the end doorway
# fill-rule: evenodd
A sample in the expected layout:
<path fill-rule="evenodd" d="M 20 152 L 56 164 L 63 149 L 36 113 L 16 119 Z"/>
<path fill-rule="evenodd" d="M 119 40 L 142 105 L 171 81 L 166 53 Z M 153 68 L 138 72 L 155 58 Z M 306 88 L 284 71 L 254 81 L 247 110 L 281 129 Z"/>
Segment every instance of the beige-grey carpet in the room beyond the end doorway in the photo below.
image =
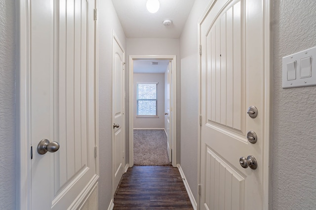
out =
<path fill-rule="evenodd" d="M 134 165 L 171 165 L 164 130 L 134 130 Z"/>

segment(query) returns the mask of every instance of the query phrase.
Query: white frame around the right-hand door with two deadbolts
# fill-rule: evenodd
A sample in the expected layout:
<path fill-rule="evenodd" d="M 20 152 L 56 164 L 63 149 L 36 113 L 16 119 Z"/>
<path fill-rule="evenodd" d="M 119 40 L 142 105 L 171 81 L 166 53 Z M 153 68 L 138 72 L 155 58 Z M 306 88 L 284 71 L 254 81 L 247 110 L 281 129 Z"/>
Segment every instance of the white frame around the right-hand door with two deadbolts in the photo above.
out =
<path fill-rule="evenodd" d="M 211 7 L 216 2 L 216 0 L 211 0 L 207 5 L 206 9 L 202 13 L 199 21 L 198 21 L 198 49 L 201 47 L 201 24 L 205 19 L 206 15 L 209 13 Z M 270 190 L 272 189 L 271 183 L 271 147 L 272 147 L 272 132 L 273 132 L 273 116 L 272 116 L 272 105 L 273 105 L 273 47 L 272 47 L 272 29 L 271 29 L 271 21 L 272 21 L 272 1 L 271 0 L 263 0 L 263 8 L 264 10 L 264 110 L 263 114 L 263 195 L 262 195 L 262 210 L 270 210 L 272 206 L 272 193 Z M 198 115 L 201 116 L 201 55 L 198 55 Z M 246 110 L 245 110 L 246 111 Z M 198 123 L 198 132 L 197 132 L 197 146 L 198 146 L 198 160 L 197 160 L 197 173 L 198 173 L 198 182 L 197 182 L 197 190 L 198 186 L 201 183 L 200 176 L 200 164 L 201 164 L 201 126 Z M 198 195 L 197 199 L 197 209 L 200 209 L 200 195 Z"/>

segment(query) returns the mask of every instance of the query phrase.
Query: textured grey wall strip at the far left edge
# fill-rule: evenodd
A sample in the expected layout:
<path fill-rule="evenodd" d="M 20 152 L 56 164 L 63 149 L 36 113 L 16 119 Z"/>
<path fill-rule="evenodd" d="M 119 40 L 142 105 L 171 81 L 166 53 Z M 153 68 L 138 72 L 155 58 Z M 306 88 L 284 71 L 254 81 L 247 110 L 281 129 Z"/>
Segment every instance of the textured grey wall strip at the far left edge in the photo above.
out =
<path fill-rule="evenodd" d="M 0 209 L 15 209 L 15 3 L 0 0 Z"/>

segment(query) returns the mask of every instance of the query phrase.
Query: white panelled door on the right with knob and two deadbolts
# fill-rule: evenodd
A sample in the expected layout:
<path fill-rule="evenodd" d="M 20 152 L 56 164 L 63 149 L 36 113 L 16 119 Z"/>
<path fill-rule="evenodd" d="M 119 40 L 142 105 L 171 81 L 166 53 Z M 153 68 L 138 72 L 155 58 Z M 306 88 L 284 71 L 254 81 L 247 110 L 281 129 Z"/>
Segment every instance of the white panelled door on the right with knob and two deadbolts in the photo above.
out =
<path fill-rule="evenodd" d="M 200 209 L 263 208 L 264 2 L 215 0 L 200 25 Z M 250 106 L 256 118 L 246 113 Z M 241 167 L 248 155 L 256 169 Z"/>

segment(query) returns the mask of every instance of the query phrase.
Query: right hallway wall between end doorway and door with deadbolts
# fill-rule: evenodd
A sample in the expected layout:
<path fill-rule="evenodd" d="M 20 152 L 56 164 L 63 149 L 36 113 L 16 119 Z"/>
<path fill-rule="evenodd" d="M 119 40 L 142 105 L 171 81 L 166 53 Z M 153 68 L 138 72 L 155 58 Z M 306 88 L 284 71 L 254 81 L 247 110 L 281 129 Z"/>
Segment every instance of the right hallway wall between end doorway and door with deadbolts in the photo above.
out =
<path fill-rule="evenodd" d="M 196 0 L 180 37 L 181 168 L 197 201 L 198 35 L 197 23 L 210 0 Z"/>

